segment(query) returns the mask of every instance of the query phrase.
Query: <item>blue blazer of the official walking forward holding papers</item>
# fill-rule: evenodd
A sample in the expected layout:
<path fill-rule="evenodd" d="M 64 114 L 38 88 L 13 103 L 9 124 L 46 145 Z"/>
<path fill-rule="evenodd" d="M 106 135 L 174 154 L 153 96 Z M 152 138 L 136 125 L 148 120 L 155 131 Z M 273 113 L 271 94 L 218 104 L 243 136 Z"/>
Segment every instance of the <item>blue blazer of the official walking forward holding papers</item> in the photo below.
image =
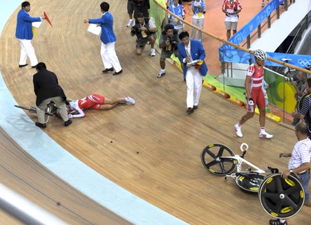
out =
<path fill-rule="evenodd" d="M 201 42 L 197 41 L 197 40 L 190 40 L 190 44 L 191 44 L 191 57 L 192 60 L 203 60 L 203 64 L 200 66 L 200 73 L 202 76 L 205 76 L 207 74 L 207 71 L 209 71 L 209 69 L 207 68 L 207 65 L 204 62 L 205 59 L 205 50 L 203 48 L 203 45 L 201 44 Z M 180 44 L 178 44 L 178 58 L 180 60 L 180 63 L 182 63 L 183 66 L 183 70 L 184 70 L 184 78 L 186 78 L 186 74 L 187 74 L 187 62 L 183 63 L 183 60 L 185 58 L 187 58 L 187 53 L 186 53 L 186 49 L 185 49 L 185 44 L 183 44 L 182 42 L 180 42 Z"/>

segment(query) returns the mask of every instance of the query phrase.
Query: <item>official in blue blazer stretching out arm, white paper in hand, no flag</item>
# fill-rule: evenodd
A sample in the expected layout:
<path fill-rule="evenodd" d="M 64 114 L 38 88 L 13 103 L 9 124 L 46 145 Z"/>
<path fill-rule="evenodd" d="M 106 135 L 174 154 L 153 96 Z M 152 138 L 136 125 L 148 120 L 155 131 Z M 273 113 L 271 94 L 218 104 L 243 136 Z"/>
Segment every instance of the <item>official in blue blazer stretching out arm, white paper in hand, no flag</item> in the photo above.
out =
<path fill-rule="evenodd" d="M 105 70 L 103 73 L 108 73 L 115 69 L 113 75 L 122 73 L 122 67 L 117 53 L 115 53 L 115 33 L 113 32 L 113 16 L 109 11 L 109 3 L 106 1 L 100 4 L 102 17 L 99 19 L 84 19 L 84 23 L 99 24 L 102 27 L 102 34 L 100 40 L 102 41 L 102 48 L 100 49 L 100 55 L 102 55 L 102 62 L 104 63 Z"/>

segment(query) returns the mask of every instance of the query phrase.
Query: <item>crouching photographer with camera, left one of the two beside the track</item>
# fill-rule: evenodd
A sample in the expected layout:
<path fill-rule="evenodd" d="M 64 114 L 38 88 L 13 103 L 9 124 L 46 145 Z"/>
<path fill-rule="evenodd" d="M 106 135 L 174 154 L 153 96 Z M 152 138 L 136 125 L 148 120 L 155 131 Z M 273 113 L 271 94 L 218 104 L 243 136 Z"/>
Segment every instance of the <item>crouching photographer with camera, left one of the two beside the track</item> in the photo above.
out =
<path fill-rule="evenodd" d="M 142 55 L 142 51 L 144 51 L 144 46 L 146 46 L 147 42 L 151 45 L 150 55 L 156 55 L 156 49 L 154 49 L 154 44 L 156 43 L 156 25 L 149 18 L 144 18 L 144 15 L 140 12 L 137 15 L 137 20 L 135 22 L 135 26 L 131 28 L 131 36 L 137 37 L 136 44 L 136 54 Z"/>

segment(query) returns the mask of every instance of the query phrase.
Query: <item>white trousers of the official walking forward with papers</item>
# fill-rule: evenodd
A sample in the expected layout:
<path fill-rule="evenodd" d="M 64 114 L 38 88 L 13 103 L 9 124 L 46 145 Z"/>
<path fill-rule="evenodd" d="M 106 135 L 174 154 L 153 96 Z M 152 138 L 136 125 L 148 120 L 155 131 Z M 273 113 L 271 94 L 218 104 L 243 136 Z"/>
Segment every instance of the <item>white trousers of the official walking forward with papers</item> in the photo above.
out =
<path fill-rule="evenodd" d="M 200 71 L 194 69 L 194 66 L 187 69 L 187 108 L 192 108 L 194 105 L 198 105 L 202 89 L 202 80 L 203 78 Z"/>

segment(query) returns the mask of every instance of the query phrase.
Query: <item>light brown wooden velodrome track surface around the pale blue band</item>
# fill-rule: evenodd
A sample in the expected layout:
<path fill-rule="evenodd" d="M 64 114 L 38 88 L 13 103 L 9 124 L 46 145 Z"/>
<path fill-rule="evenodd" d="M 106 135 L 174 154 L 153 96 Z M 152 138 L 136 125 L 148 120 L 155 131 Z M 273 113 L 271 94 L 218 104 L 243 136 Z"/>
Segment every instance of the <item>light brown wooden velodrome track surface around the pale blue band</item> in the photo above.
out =
<path fill-rule="evenodd" d="M 69 98 L 90 93 L 108 98 L 129 95 L 137 104 L 86 111 L 86 117 L 74 119 L 70 127 L 50 118 L 44 132 L 102 176 L 189 224 L 267 224 L 271 217 L 261 208 L 258 197 L 241 192 L 232 179 L 225 182 L 209 174 L 200 162 L 200 152 L 209 143 L 223 143 L 238 154 L 245 142 L 250 147 L 247 160 L 260 168 L 271 165 L 285 170 L 288 160 L 278 155 L 291 151 L 296 143 L 292 129 L 268 120 L 267 132 L 274 138 L 261 140 L 256 115 L 243 126 L 244 137 L 237 138 L 233 126 L 245 110 L 208 89 L 202 89 L 198 110 L 187 116 L 182 74 L 167 63 L 167 75 L 158 79 L 159 54 L 149 57 L 147 47 L 142 56 L 135 55 L 135 39 L 124 26 L 124 1 L 110 2 L 115 15 L 116 51 L 124 72 L 117 76 L 102 74 L 100 40 L 87 33 L 88 25 L 83 24 L 83 19 L 100 17 L 101 2 L 55 0 L 44 1 L 43 7 L 42 1 L 31 1 L 32 16 L 44 9 L 53 18 L 53 28 L 44 22 L 32 44 L 39 61 L 57 74 Z M 1 73 L 19 105 L 34 105 L 35 69 L 17 66 L 18 10 L 1 34 Z M 216 53 L 207 52 L 207 62 L 210 54 Z M 34 114 L 28 116 L 37 120 Z M 1 183 L 69 224 L 129 224 L 57 179 L 3 130 L 1 153 Z M 57 202 L 62 202 L 62 207 Z M 304 207 L 289 221 L 310 224 L 310 208 Z M 17 223 L 3 213 L 0 222 Z"/>

